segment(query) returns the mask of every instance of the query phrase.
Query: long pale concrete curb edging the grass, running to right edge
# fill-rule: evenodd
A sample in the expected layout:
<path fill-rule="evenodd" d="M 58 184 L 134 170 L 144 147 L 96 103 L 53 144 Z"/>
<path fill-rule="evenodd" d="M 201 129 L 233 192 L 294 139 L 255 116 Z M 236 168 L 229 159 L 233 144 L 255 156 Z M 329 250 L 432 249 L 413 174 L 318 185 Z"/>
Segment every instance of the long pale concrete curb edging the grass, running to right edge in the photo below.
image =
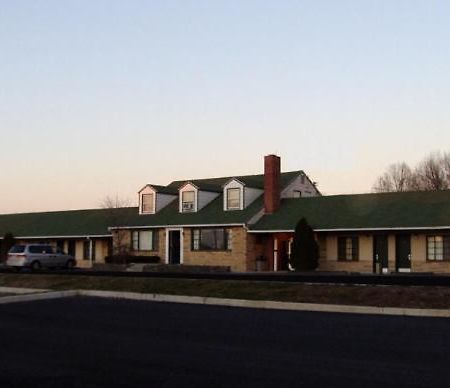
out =
<path fill-rule="evenodd" d="M 150 302 L 189 303 L 209 306 L 244 307 L 255 309 L 310 311 L 347 314 L 375 314 L 410 317 L 450 318 L 450 310 L 411 309 L 396 307 L 345 306 L 315 303 L 290 303 L 266 300 L 222 299 L 201 296 L 140 294 L 135 292 L 78 290 L 78 295 L 100 298 L 141 300 Z"/>

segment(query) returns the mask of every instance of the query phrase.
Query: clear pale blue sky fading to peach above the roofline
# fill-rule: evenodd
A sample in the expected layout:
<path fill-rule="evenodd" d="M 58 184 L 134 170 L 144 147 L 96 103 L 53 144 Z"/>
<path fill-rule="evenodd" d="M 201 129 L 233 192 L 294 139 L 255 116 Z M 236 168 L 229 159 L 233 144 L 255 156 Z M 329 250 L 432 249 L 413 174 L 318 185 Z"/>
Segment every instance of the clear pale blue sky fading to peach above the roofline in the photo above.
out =
<path fill-rule="evenodd" d="M 0 213 L 450 150 L 447 0 L 0 0 Z"/>

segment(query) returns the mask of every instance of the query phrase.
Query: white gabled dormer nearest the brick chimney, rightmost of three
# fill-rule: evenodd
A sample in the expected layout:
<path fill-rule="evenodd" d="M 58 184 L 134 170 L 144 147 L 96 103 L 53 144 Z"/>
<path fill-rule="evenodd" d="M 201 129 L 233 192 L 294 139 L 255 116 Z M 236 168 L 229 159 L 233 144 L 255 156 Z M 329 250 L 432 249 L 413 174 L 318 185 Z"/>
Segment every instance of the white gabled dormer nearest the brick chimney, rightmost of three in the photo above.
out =
<path fill-rule="evenodd" d="M 243 210 L 263 192 L 262 189 L 249 187 L 238 178 L 232 178 L 223 186 L 223 210 Z"/>

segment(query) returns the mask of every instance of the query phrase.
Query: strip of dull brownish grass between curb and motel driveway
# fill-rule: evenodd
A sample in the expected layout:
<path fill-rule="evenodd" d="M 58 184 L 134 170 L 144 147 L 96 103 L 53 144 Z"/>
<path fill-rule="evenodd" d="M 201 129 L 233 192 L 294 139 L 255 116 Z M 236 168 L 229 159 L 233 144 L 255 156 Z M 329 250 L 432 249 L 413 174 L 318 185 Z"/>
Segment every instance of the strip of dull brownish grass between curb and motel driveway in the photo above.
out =
<path fill-rule="evenodd" d="M 450 308 L 450 287 L 0 274 L 0 287 L 108 290 L 383 307 Z"/>

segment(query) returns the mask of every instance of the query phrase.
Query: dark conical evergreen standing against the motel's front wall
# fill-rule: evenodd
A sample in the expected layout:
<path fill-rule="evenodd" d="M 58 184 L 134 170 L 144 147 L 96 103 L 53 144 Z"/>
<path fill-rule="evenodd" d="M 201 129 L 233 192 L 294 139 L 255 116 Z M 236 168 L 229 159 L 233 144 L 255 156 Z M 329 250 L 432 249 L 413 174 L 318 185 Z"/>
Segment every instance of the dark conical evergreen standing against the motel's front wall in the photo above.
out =
<path fill-rule="evenodd" d="M 305 218 L 295 227 L 290 264 L 295 271 L 314 271 L 319 265 L 319 246 Z"/>

